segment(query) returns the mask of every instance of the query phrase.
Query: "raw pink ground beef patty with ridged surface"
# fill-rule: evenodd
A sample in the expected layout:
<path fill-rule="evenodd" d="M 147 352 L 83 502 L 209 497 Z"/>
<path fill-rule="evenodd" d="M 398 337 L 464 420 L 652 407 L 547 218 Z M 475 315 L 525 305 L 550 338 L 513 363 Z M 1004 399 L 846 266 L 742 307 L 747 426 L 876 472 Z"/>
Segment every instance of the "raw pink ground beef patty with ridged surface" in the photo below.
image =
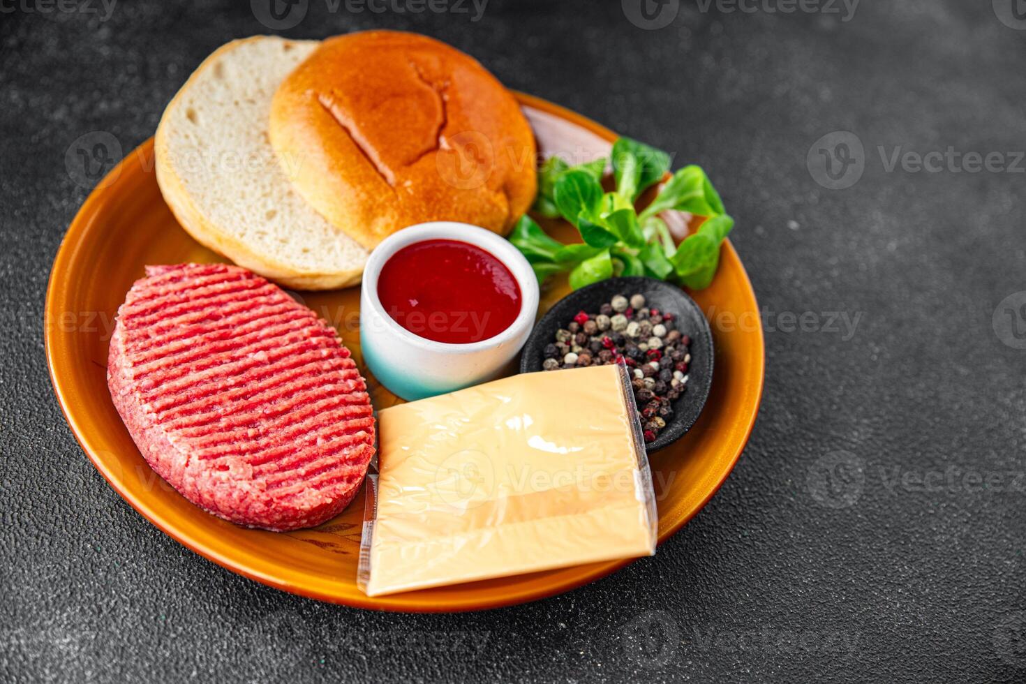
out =
<path fill-rule="evenodd" d="M 373 455 L 366 386 L 333 328 L 224 264 L 147 268 L 118 310 L 107 380 L 150 467 L 240 525 L 318 525 Z"/>

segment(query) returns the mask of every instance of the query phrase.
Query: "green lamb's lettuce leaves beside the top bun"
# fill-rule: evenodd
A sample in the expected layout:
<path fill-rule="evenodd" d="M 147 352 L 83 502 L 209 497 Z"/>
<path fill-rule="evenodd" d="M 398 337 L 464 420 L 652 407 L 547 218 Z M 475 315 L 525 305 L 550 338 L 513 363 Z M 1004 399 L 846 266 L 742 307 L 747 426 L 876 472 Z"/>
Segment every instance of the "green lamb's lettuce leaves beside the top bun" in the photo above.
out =
<path fill-rule="evenodd" d="M 510 240 L 527 257 L 539 281 L 569 271 L 574 289 L 614 275 L 677 280 L 690 289 L 708 287 L 734 219 L 724 212 L 705 171 L 695 165 L 677 170 L 638 213 L 635 202 L 666 175 L 669 155 L 621 137 L 613 146 L 611 163 L 613 192 L 603 191 L 601 185 L 604 158 L 570 166 L 550 157 L 539 169 L 535 211 L 550 218 L 562 216 L 584 241 L 564 245 L 529 216 L 522 216 Z M 678 246 L 659 216 L 669 210 L 687 211 L 706 220 Z"/>

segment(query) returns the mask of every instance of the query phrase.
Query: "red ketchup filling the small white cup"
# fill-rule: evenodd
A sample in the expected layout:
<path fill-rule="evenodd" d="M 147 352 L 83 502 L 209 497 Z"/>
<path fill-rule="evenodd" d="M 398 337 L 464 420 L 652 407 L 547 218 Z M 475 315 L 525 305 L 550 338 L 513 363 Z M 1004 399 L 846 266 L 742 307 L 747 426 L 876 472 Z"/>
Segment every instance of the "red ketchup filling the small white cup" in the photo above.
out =
<path fill-rule="evenodd" d="M 495 337 L 521 306 L 506 265 L 459 240 L 425 240 L 392 254 L 378 277 L 378 298 L 406 330 L 453 345 Z"/>

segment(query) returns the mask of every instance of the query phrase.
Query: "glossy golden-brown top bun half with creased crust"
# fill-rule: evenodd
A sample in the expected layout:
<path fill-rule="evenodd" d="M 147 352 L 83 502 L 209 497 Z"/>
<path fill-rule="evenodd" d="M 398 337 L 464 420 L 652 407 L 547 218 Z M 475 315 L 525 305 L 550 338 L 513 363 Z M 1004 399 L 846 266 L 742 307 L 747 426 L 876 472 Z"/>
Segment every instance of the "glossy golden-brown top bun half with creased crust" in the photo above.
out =
<path fill-rule="evenodd" d="M 427 220 L 505 234 L 535 198 L 535 138 L 513 95 L 426 36 L 325 40 L 279 86 L 270 134 L 299 194 L 367 248 Z"/>

